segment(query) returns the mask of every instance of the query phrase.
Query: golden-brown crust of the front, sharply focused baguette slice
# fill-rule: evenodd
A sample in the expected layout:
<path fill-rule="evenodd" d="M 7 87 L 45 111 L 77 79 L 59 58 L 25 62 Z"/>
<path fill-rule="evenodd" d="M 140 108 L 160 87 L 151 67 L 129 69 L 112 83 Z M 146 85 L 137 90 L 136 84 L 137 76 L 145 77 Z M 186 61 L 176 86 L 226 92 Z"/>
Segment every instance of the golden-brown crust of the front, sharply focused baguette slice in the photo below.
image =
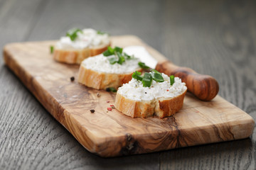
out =
<path fill-rule="evenodd" d="M 147 118 L 156 115 L 159 118 L 165 118 L 177 113 L 183 106 L 183 99 L 186 91 L 174 98 L 156 98 L 152 101 L 134 101 L 125 98 L 117 91 L 114 101 L 114 107 L 118 111 L 129 115 L 132 118 Z"/>

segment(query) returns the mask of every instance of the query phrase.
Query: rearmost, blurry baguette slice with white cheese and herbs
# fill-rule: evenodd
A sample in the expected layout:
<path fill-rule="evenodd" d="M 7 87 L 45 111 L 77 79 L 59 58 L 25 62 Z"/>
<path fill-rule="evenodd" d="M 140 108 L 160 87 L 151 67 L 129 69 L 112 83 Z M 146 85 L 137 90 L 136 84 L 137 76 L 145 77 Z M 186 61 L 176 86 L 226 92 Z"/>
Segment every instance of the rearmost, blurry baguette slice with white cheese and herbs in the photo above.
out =
<path fill-rule="evenodd" d="M 53 58 L 58 62 L 80 64 L 99 55 L 110 45 L 110 36 L 97 30 L 73 28 L 55 44 Z"/>

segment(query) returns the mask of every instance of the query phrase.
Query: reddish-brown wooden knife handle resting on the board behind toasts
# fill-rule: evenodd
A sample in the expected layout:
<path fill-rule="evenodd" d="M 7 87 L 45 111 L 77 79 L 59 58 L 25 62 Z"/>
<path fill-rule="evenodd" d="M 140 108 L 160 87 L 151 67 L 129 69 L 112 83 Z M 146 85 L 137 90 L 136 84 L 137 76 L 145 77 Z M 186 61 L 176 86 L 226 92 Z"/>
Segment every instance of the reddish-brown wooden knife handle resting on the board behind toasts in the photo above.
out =
<path fill-rule="evenodd" d="M 178 67 L 169 61 L 164 61 L 156 65 L 156 70 L 181 78 L 186 83 L 188 91 L 202 101 L 210 101 L 218 94 L 218 81 L 208 75 L 198 74 L 188 67 Z"/>

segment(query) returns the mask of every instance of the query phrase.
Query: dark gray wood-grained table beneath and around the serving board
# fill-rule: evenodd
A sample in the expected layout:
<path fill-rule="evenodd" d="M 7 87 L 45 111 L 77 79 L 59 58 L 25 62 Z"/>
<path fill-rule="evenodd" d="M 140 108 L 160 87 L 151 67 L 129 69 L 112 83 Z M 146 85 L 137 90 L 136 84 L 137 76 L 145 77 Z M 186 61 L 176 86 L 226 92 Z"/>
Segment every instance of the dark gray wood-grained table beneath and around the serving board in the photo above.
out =
<path fill-rule="evenodd" d="M 0 47 L 69 28 L 132 34 L 210 74 L 256 118 L 256 1 L 0 0 Z M 0 169 L 256 169 L 256 138 L 103 159 L 87 152 L 0 59 Z"/>

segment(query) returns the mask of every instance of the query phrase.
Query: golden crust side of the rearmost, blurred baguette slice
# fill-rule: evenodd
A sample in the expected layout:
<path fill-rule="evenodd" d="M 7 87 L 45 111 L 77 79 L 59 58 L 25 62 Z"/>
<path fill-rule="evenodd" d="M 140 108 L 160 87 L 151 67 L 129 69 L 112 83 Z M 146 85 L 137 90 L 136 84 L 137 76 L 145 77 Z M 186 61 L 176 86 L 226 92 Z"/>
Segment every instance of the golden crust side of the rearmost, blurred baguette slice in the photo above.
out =
<path fill-rule="evenodd" d="M 87 57 L 100 55 L 107 50 L 109 44 L 98 45 L 97 47 L 87 47 L 81 50 L 77 49 L 59 49 L 55 48 L 53 52 L 53 59 L 58 62 L 65 62 L 68 64 L 80 64 L 82 60 Z"/>

